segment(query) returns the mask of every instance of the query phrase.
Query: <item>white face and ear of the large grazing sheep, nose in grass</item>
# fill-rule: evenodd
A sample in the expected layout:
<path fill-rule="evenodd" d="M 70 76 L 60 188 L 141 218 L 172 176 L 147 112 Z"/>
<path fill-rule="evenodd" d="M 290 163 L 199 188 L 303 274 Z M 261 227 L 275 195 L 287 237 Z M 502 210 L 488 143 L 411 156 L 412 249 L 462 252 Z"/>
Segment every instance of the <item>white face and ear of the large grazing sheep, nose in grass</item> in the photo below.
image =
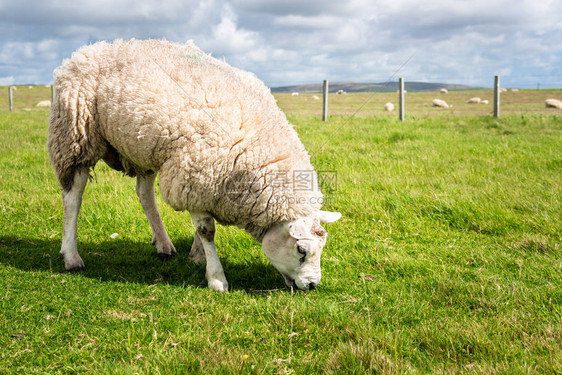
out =
<path fill-rule="evenodd" d="M 262 247 L 289 287 L 314 289 L 320 283 L 320 256 L 328 233 L 320 223 L 338 220 L 338 212 L 318 211 L 295 221 L 274 225 L 265 234 Z"/>

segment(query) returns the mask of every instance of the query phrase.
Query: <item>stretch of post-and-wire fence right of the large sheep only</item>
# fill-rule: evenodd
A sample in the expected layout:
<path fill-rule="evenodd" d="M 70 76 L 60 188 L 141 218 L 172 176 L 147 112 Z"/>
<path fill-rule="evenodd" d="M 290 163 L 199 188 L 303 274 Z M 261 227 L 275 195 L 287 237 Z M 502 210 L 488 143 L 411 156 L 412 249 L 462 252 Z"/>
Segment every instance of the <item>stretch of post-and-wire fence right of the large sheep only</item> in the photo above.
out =
<path fill-rule="evenodd" d="M 346 93 L 333 88 L 328 93 L 292 92 L 275 93 L 279 106 L 287 115 L 322 114 L 329 116 L 397 116 L 401 120 L 415 116 L 494 116 L 510 113 L 551 113 L 561 114 L 562 89 L 506 89 L 500 85 L 492 88 L 471 88 L 446 84 L 419 84 L 404 81 L 392 82 L 388 90 Z M 432 86 L 433 85 L 433 86 Z M 310 88 L 310 86 L 306 86 Z M 341 85 L 340 85 L 341 87 Z M 413 88 L 413 90 L 412 90 Z M 424 90 L 424 91 L 420 91 Z M 298 95 L 297 95 L 298 94 Z M 320 97 L 328 95 L 329 113 L 320 103 Z M 402 98 L 402 100 L 401 100 Z M 329 115 L 329 116 L 328 116 Z"/>

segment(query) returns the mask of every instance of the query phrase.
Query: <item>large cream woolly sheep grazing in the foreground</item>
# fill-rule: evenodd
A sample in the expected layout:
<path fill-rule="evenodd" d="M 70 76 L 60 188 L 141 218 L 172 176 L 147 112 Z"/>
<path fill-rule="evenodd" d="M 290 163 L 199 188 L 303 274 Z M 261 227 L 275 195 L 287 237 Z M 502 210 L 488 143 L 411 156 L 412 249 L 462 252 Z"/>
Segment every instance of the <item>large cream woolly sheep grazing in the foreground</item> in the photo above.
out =
<path fill-rule="evenodd" d="M 76 223 L 90 170 L 103 159 L 137 178 L 136 192 L 158 254 L 176 250 L 156 206 L 187 210 L 196 233 L 190 257 L 206 263 L 209 288 L 228 290 L 215 220 L 262 242 L 290 287 L 320 282 L 327 233 L 341 215 L 321 211 L 310 157 L 265 85 L 192 43 L 98 42 L 56 71 L 48 148 L 63 191 L 61 255 L 84 268 Z"/>

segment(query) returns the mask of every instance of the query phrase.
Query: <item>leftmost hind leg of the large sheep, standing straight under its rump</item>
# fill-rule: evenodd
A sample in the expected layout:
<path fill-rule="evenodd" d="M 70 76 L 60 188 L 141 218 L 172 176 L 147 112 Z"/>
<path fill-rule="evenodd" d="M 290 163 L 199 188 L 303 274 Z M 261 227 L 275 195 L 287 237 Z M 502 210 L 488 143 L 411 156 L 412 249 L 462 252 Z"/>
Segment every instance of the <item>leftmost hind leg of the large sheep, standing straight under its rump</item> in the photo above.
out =
<path fill-rule="evenodd" d="M 64 268 L 68 271 L 84 269 L 84 262 L 78 254 L 78 240 L 76 235 L 78 214 L 82 205 L 82 194 L 88 183 L 88 170 L 80 169 L 74 174 L 70 190 L 62 192 L 64 208 L 64 222 L 62 231 L 61 257 L 64 259 Z"/>

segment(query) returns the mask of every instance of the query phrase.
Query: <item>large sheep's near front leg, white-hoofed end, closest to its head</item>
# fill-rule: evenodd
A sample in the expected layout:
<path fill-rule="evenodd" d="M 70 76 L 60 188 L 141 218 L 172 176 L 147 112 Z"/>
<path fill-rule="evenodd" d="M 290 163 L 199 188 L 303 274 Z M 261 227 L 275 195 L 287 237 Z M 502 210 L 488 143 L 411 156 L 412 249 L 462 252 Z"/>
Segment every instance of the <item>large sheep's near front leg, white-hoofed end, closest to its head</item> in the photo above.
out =
<path fill-rule="evenodd" d="M 209 288 L 217 292 L 226 292 L 228 282 L 215 248 L 215 219 L 207 212 L 190 212 L 190 214 L 197 230 L 195 240 L 199 237 L 205 251 L 206 277 Z"/>

